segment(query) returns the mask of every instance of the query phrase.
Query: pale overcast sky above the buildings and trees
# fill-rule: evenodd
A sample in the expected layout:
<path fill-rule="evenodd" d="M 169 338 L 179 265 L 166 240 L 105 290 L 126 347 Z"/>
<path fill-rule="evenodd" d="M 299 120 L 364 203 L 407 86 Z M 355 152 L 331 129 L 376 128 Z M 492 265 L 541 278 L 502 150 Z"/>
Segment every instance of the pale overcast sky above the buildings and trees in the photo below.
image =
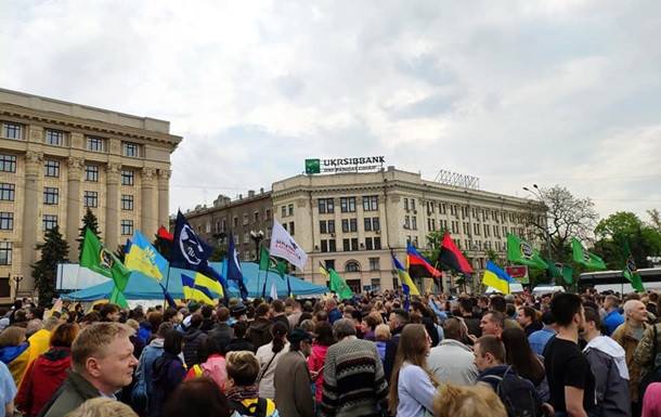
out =
<path fill-rule="evenodd" d="M 384 155 L 661 209 L 658 1 L 3 1 L 0 86 L 169 120 L 170 211 Z"/>

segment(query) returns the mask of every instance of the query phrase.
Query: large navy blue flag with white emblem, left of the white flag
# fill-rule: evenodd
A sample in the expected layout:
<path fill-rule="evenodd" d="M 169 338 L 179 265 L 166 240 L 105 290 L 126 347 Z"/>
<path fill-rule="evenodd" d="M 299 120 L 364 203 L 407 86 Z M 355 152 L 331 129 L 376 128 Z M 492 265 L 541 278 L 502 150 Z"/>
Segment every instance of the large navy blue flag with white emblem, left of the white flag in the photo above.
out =
<path fill-rule="evenodd" d="M 172 266 L 182 270 L 195 271 L 211 281 L 216 281 L 218 286 L 208 286 L 218 294 L 221 294 L 229 303 L 228 282 L 209 263 L 208 259 L 213 251 L 213 247 L 202 240 L 181 211 L 177 213 L 177 225 L 174 226 L 174 239 L 172 239 Z"/>

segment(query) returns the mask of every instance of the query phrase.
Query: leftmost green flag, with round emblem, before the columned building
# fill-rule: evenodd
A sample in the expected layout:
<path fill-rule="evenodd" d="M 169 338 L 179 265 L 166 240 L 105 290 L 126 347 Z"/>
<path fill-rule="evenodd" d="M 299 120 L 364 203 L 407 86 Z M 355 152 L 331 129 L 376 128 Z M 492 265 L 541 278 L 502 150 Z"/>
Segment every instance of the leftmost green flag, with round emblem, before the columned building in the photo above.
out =
<path fill-rule="evenodd" d="M 113 289 L 111 302 L 124 302 L 125 305 L 120 304 L 120 307 L 128 307 L 124 298 L 124 289 L 129 283 L 131 271 L 119 262 L 112 251 L 101 245 L 99 238 L 96 238 L 89 229 L 85 230 L 85 240 L 82 242 L 82 252 L 80 253 L 80 266 L 88 268 L 113 279 L 117 291 Z M 120 292 L 121 296 L 117 292 Z"/>

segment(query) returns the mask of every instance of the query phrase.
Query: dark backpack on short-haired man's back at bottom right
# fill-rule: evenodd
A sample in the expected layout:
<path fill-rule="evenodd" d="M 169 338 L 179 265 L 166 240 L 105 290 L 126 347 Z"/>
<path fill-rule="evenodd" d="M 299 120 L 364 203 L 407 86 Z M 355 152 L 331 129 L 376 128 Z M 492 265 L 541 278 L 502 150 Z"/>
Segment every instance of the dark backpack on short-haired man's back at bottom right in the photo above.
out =
<path fill-rule="evenodd" d="M 498 394 L 507 417 L 540 417 L 544 415 L 542 399 L 532 383 L 514 373 L 509 373 L 511 366 L 503 374 L 488 375 L 482 380 L 497 382 L 496 394 Z M 509 374 L 508 374 L 509 373 Z"/>

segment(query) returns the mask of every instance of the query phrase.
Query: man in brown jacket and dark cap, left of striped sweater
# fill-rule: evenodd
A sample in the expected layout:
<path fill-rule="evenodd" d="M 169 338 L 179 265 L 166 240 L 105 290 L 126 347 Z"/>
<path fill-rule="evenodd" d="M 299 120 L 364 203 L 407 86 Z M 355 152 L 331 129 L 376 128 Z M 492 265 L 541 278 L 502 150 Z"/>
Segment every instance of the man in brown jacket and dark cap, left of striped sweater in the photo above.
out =
<path fill-rule="evenodd" d="M 313 417 L 314 398 L 310 390 L 310 368 L 307 357 L 312 351 L 316 335 L 295 327 L 287 339 L 289 352 L 277 361 L 273 386 L 275 404 L 282 416 Z"/>

